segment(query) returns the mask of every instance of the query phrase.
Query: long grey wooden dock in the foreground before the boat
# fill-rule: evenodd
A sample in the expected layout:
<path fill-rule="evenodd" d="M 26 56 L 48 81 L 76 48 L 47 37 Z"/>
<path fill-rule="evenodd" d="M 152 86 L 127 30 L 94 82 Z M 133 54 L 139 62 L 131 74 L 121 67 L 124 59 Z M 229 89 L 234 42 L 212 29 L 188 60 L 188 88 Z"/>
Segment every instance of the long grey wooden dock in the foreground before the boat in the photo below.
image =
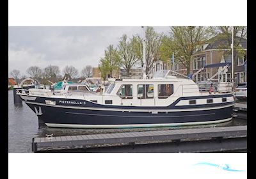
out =
<path fill-rule="evenodd" d="M 36 137 L 33 152 L 216 152 L 246 150 L 247 126 Z"/>

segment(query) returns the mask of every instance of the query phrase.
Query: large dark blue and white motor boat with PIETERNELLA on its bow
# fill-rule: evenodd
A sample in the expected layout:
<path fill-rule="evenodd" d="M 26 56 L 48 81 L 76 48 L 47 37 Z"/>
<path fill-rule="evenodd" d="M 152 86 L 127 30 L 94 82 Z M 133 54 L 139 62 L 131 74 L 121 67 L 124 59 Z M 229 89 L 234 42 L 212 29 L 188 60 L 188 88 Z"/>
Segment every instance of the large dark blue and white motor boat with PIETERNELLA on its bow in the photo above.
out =
<path fill-rule="evenodd" d="M 202 92 L 189 77 L 170 72 L 152 79 L 109 79 L 104 93 L 43 95 L 17 89 L 17 95 L 48 127 L 166 127 L 232 120 L 232 91 Z"/>

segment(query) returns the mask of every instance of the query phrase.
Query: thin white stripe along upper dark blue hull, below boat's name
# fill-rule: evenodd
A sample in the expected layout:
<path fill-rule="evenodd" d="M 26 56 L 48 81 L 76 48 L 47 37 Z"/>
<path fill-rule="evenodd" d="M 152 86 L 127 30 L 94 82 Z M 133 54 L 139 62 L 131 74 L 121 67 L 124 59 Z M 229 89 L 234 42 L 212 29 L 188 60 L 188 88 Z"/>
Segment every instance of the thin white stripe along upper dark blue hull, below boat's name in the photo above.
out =
<path fill-rule="evenodd" d="M 36 104 L 36 105 L 45 105 L 45 106 L 51 106 L 51 107 L 61 107 L 61 108 L 68 108 L 68 109 L 87 109 L 87 110 L 97 110 L 97 111 L 122 111 L 122 112 L 173 112 L 173 111 L 205 111 L 205 110 L 211 110 L 211 109 L 221 109 L 225 107 L 231 107 L 234 106 L 234 104 L 229 105 L 221 105 L 216 107 L 202 107 L 202 108 L 191 108 L 191 109 L 116 109 L 116 108 L 102 108 L 102 107 L 76 107 L 71 105 L 50 105 L 50 104 L 42 104 L 39 102 L 28 102 L 24 101 L 28 104 Z"/>

